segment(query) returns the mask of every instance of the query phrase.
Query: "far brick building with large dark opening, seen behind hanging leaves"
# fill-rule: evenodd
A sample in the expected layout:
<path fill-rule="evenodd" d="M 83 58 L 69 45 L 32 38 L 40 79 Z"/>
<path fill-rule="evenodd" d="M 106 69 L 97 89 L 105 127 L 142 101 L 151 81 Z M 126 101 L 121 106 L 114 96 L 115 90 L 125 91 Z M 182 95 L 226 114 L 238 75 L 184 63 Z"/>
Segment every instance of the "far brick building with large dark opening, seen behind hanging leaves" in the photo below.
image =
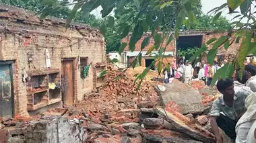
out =
<path fill-rule="evenodd" d="M 212 38 L 220 38 L 221 36 L 226 35 L 227 33 L 218 33 L 213 31 L 187 31 L 187 32 L 180 32 L 179 38 L 172 40 L 172 42 L 166 46 L 166 53 L 165 56 L 167 58 L 164 59 L 164 64 L 168 62 L 172 62 L 174 58 L 177 58 L 178 50 L 185 50 L 187 48 L 194 48 L 198 47 L 201 48 L 201 45 L 203 43 L 206 43 L 208 40 Z M 143 42 L 144 38 L 148 37 L 149 34 L 144 34 L 142 38 L 137 42 L 135 45 L 135 51 L 131 52 L 129 51 L 129 47 L 127 46 L 124 50 L 124 52 L 121 55 L 121 60 L 124 66 L 128 66 L 129 63 L 133 61 L 133 59 L 139 54 L 141 50 L 141 43 Z M 123 38 L 122 42 L 129 43 L 129 38 L 131 35 L 127 36 L 126 38 Z M 164 42 L 165 43 L 165 42 Z M 214 43 L 214 42 L 213 42 Z M 154 57 L 146 55 L 146 52 L 149 50 L 151 46 L 154 45 L 154 39 L 151 38 L 150 44 L 144 48 L 141 52 L 143 58 L 141 60 L 141 66 L 148 66 L 151 64 L 151 62 L 154 60 Z M 238 51 L 240 44 L 233 43 L 228 50 L 225 50 L 223 46 L 221 46 L 218 50 L 218 56 L 224 56 L 224 58 L 232 58 L 236 52 Z M 164 47 L 164 45 L 163 45 Z M 208 48 L 212 48 L 212 44 L 208 46 Z M 158 51 L 152 51 L 153 53 L 157 53 Z M 111 53 L 115 54 L 115 53 Z M 118 56 L 117 56 L 118 57 Z M 207 54 L 203 53 L 203 56 L 201 57 L 201 60 L 207 61 Z M 120 64 L 120 63 L 119 63 Z"/>

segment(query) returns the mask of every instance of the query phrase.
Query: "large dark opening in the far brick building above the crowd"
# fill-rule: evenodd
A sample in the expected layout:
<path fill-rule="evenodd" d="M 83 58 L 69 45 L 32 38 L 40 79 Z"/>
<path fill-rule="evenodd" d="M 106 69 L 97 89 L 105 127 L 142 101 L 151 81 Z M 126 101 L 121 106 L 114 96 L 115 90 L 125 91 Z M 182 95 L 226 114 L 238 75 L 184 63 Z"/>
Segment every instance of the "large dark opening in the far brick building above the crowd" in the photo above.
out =
<path fill-rule="evenodd" d="M 203 41 L 203 36 L 202 35 L 197 35 L 197 36 L 180 36 L 177 39 L 177 56 L 181 56 L 181 53 L 189 51 L 191 52 L 193 48 L 201 48 L 201 44 Z M 191 55 L 186 54 L 185 59 L 183 60 L 188 60 L 191 57 Z M 178 61 L 179 62 L 179 61 Z"/>

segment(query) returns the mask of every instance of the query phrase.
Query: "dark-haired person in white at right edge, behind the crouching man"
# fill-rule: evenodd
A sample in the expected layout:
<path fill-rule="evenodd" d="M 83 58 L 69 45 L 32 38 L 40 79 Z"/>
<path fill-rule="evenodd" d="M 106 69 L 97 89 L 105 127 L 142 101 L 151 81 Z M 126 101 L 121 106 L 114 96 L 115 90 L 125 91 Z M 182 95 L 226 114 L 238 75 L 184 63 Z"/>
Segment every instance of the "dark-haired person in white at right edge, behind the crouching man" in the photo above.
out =
<path fill-rule="evenodd" d="M 250 87 L 253 92 L 256 92 L 256 66 L 253 66 L 253 64 L 248 64 L 245 66 L 245 70 L 247 70 L 249 73 L 249 79 L 245 85 Z"/>

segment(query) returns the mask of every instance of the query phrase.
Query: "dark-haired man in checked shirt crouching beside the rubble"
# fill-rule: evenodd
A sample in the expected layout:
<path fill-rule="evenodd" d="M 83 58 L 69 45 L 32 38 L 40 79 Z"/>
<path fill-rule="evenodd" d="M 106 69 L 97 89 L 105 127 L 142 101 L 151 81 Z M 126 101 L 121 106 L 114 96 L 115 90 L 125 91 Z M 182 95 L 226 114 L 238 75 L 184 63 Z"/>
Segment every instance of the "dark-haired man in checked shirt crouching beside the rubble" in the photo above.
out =
<path fill-rule="evenodd" d="M 234 142 L 236 139 L 236 123 L 247 110 L 245 108 L 245 99 L 251 92 L 235 92 L 232 79 L 221 79 L 217 83 L 217 89 L 222 95 L 214 101 L 209 113 L 212 129 L 216 136 L 216 142 L 222 143 L 222 136 L 218 127 L 220 127 L 225 134 L 231 138 L 232 142 Z"/>

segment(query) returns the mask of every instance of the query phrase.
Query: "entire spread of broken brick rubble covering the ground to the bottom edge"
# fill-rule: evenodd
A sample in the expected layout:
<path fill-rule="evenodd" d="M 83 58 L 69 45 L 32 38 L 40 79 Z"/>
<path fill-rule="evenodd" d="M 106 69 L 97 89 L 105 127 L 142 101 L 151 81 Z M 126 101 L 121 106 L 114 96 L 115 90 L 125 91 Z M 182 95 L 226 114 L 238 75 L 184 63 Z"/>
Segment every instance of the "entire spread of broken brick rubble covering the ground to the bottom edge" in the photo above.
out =
<path fill-rule="evenodd" d="M 132 72 L 131 69 L 129 70 L 129 72 Z M 117 75 L 120 76 L 120 78 L 113 80 Z M 33 126 L 35 123 L 43 122 L 45 118 L 53 119 L 55 115 L 63 115 L 63 118 L 61 117 L 60 119 L 65 119 L 65 121 L 68 120 L 69 123 L 74 122 L 77 126 L 82 126 L 84 128 L 86 142 L 214 142 L 214 134 L 211 130 L 210 121 L 207 115 L 203 115 L 207 114 L 207 111 L 201 110 L 194 113 L 194 115 L 191 113 L 183 115 L 177 110 L 177 107 L 182 109 L 187 105 L 179 103 L 179 100 L 172 98 L 172 95 L 166 98 L 168 99 L 166 105 L 161 107 L 163 103 L 161 101 L 162 94 L 164 92 L 171 92 L 171 89 L 170 91 L 169 89 L 163 90 L 166 89 L 164 87 L 177 85 L 186 86 L 189 91 L 195 89 L 174 80 L 167 85 L 161 84 L 157 86 L 159 89 L 162 89 L 158 91 L 158 89 L 154 89 L 156 85 L 153 84 L 154 81 L 150 83 L 146 81 L 146 84 L 141 85 L 141 89 L 139 89 L 141 93 L 139 91 L 133 92 L 133 89 L 135 90 L 137 87 L 133 86 L 134 78 L 130 75 L 131 74 L 115 70 L 112 66 L 108 66 L 106 85 L 98 91 L 90 93 L 90 95 L 85 95 L 86 99 L 84 101 L 75 103 L 67 108 L 59 107 L 49 109 L 44 113 L 38 114 L 36 117 L 16 117 L 13 120 L 9 119 L 9 124 L 6 121 L 1 122 L 1 124 L 3 124 L 3 128 L 9 130 L 10 133 L 16 133 L 15 136 L 10 137 L 9 140 L 22 140 L 25 143 L 30 143 L 26 140 L 28 137 L 17 134 L 16 131 L 26 131 L 26 128 L 30 128 L 30 126 Z M 177 82 L 179 84 L 177 84 Z M 200 86 L 195 86 L 195 88 Z M 124 89 L 125 87 L 126 89 Z M 205 88 L 206 87 L 203 87 L 203 89 Z M 146 89 L 148 89 L 147 92 L 145 92 Z M 197 93 L 199 94 L 197 96 L 200 96 L 201 93 L 204 94 L 201 94 L 201 103 L 196 102 L 202 107 L 205 107 L 203 106 L 202 99 L 207 95 L 207 90 L 201 90 L 202 92 Z M 193 93 L 196 93 L 195 91 L 193 91 Z M 161 94 L 159 92 L 161 92 Z M 209 96 L 209 98 L 215 98 L 212 95 L 207 96 Z M 174 105 L 174 103 L 176 105 Z M 207 105 L 211 105 L 211 103 Z M 207 110 L 207 107 L 205 107 L 205 109 Z M 31 121 L 24 122 L 24 120 Z M 21 122 L 24 123 L 22 124 L 23 126 L 20 126 Z M 13 128 L 15 129 L 14 131 Z M 79 130 L 79 133 L 82 133 L 82 131 Z M 35 136 L 36 134 L 37 133 L 35 133 Z M 52 133 L 49 132 L 49 135 L 51 134 Z M 72 132 L 67 130 L 67 134 L 71 134 L 71 136 L 68 136 L 65 140 L 72 140 Z M 73 139 L 77 138 L 78 135 L 75 135 Z M 79 140 L 77 142 L 82 141 Z"/>

